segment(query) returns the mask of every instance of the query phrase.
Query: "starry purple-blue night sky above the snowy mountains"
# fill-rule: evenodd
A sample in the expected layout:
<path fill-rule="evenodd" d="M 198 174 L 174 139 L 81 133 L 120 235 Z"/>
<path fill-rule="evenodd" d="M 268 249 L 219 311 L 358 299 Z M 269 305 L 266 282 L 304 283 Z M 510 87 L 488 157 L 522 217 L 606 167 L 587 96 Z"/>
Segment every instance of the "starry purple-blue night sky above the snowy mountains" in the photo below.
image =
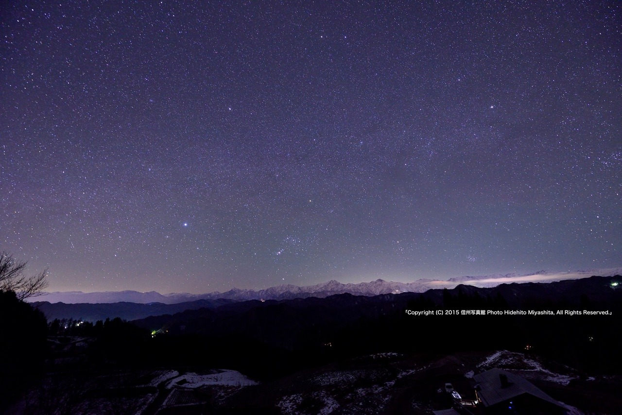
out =
<path fill-rule="evenodd" d="M 0 250 L 50 291 L 621 266 L 621 3 L 410 3 L 3 2 Z"/>

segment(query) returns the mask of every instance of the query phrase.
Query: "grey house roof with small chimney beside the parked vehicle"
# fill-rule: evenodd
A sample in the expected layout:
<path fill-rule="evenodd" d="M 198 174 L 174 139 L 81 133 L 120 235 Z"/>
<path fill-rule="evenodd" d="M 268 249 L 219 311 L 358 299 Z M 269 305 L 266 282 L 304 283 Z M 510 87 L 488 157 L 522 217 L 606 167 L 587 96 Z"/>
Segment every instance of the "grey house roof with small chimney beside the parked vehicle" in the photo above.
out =
<path fill-rule="evenodd" d="M 506 387 L 501 386 L 501 378 L 499 375 L 507 376 L 508 385 Z M 479 373 L 478 375 L 473 376 L 473 380 L 480 385 L 481 391 L 478 391 L 478 395 L 485 406 L 492 406 L 494 404 L 498 404 L 499 402 L 516 398 L 516 396 L 524 393 L 531 394 L 532 396 L 536 396 L 536 398 L 540 398 L 543 401 L 561 406 L 559 402 L 542 392 L 525 378 L 521 378 L 521 376 L 514 375 L 513 373 L 506 372 L 499 368 L 493 368 Z"/>

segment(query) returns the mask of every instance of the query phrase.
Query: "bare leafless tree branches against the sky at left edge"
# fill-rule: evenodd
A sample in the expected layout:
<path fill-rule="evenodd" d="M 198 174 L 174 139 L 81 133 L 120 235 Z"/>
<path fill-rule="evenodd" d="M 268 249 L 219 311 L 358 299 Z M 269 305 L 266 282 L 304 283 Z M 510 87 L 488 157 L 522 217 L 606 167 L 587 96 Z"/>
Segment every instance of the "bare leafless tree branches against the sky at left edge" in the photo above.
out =
<path fill-rule="evenodd" d="M 9 253 L 0 253 L 0 292 L 15 292 L 17 299 L 36 297 L 47 287 L 47 269 L 32 276 L 24 275 L 26 262 L 16 261 Z"/>

